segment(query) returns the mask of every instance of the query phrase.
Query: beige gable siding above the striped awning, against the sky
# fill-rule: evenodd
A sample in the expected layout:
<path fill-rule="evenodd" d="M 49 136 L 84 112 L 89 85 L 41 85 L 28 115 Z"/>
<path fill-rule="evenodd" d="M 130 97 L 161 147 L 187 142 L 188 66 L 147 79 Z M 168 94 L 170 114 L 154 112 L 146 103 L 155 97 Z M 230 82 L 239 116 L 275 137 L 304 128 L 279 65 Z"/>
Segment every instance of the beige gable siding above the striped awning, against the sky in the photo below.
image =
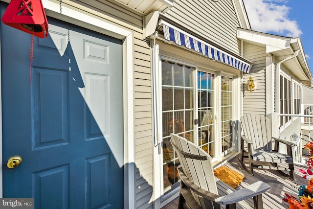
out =
<path fill-rule="evenodd" d="M 175 0 L 165 15 L 214 44 L 239 55 L 236 27 L 239 22 L 232 0 Z"/>

